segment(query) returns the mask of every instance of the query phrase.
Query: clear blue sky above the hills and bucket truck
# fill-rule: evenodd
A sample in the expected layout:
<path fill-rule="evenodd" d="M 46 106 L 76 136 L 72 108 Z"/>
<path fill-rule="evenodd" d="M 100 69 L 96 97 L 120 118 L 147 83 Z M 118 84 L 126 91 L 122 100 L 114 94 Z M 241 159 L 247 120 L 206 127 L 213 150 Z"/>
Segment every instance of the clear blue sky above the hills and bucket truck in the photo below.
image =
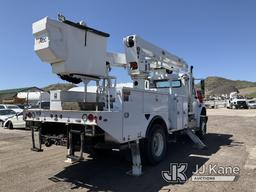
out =
<path fill-rule="evenodd" d="M 110 33 L 108 51 L 138 34 L 194 65 L 197 77 L 256 81 L 254 0 L 26 0 L 0 4 L 0 89 L 61 83 L 33 51 L 32 23 L 62 13 Z M 127 72 L 115 70 L 119 82 Z"/>

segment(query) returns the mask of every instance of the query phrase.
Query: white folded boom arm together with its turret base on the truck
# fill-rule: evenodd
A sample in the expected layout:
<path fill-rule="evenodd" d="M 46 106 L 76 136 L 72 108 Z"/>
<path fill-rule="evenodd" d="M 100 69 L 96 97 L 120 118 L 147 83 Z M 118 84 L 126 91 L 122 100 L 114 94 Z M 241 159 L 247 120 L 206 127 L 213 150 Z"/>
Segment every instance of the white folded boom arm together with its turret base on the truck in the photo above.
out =
<path fill-rule="evenodd" d="M 124 38 L 124 44 L 134 87 L 149 89 L 149 79 L 168 79 L 168 74 L 173 71 L 188 72 L 188 65 L 183 59 L 137 35 Z"/>

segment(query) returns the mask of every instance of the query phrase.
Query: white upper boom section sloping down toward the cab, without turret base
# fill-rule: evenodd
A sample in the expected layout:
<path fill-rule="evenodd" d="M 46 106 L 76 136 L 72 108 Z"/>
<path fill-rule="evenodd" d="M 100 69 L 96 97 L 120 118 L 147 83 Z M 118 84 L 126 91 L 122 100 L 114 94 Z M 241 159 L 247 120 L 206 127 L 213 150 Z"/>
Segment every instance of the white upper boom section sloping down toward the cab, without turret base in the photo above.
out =
<path fill-rule="evenodd" d="M 131 75 L 148 74 L 154 69 L 167 69 L 170 71 L 187 71 L 187 63 L 159 48 L 137 35 L 124 38 L 125 53 L 130 67 Z M 137 68 L 135 63 L 137 63 Z M 135 65 L 135 67 L 133 67 Z"/>

